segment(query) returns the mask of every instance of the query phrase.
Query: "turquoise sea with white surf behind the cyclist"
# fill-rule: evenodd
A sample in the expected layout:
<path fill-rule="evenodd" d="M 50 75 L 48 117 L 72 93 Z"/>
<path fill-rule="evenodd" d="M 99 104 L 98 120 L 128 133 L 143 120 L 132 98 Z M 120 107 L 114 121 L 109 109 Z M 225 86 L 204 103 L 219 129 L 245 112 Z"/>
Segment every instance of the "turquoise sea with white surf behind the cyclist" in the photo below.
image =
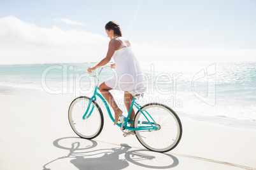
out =
<path fill-rule="evenodd" d="M 73 98 L 91 96 L 96 81 L 87 68 L 94 65 L 0 65 L 0 93 L 4 93 L 4 86 L 50 95 L 73 95 Z M 256 62 L 143 62 L 141 69 L 147 90 L 140 102 L 163 103 L 191 115 L 256 121 L 255 68 Z M 113 69 L 104 69 L 100 83 L 115 74 Z"/>

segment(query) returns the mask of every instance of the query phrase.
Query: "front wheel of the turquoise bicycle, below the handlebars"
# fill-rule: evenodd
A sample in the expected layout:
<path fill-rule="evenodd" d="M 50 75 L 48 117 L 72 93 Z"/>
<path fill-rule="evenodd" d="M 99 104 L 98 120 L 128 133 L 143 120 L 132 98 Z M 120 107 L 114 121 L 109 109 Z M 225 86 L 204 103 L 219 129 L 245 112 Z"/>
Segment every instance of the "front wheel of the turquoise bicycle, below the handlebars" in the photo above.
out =
<path fill-rule="evenodd" d="M 73 100 L 69 106 L 68 119 L 71 128 L 78 136 L 90 140 L 96 138 L 101 133 L 104 119 L 101 108 L 94 100 L 90 104 L 90 110 L 93 108 L 92 114 L 90 117 L 83 119 L 83 115 L 89 106 L 89 101 L 90 98 L 87 96 L 80 96 Z"/>

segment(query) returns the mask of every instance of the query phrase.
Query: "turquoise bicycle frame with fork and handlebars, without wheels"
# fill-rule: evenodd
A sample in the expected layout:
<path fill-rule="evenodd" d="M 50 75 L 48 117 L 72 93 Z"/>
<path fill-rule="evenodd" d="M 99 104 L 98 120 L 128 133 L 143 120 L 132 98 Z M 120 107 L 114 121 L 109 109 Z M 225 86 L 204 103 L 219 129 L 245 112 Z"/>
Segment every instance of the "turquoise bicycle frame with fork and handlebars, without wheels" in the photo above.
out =
<path fill-rule="evenodd" d="M 103 67 L 103 68 L 104 68 L 104 67 Z M 103 70 L 103 68 L 102 68 L 101 70 Z M 100 70 L 99 74 L 101 73 L 101 70 Z M 98 74 L 98 75 L 99 75 L 99 74 Z M 92 76 L 92 75 L 90 75 L 90 76 Z M 92 114 L 92 111 L 94 110 L 94 105 L 92 105 L 92 101 L 93 101 L 93 100 L 96 101 L 96 99 L 97 99 L 96 96 L 98 96 L 101 100 L 103 100 L 103 103 L 104 103 L 104 105 L 105 105 L 105 107 L 106 107 L 106 110 L 108 111 L 108 115 L 110 116 L 110 119 L 111 119 L 113 122 L 115 122 L 115 119 L 113 118 L 113 116 L 112 116 L 112 114 L 111 114 L 110 107 L 108 106 L 108 102 L 107 102 L 107 101 L 104 99 L 104 97 L 98 92 L 98 91 L 99 91 L 99 87 L 98 87 L 98 86 L 99 86 L 99 79 L 98 79 L 97 75 L 94 75 L 94 76 L 92 76 L 92 77 L 96 77 L 97 83 L 96 83 L 96 86 L 95 86 L 95 89 L 94 89 L 94 95 L 92 96 L 92 98 L 90 98 L 89 105 L 88 105 L 88 107 L 87 107 L 87 110 L 85 111 L 85 114 L 83 115 L 83 119 L 88 119 L 88 118 L 90 117 L 90 115 Z M 125 129 L 130 130 L 130 131 L 141 131 L 141 130 L 155 131 L 155 130 L 157 130 L 157 126 L 156 126 L 157 123 L 153 120 L 153 118 L 151 117 L 151 115 L 150 115 L 148 112 L 146 112 L 146 110 L 145 110 L 145 112 L 143 112 L 143 111 L 140 109 L 140 108 L 141 108 L 141 105 L 139 105 L 138 103 L 136 103 L 135 100 L 136 100 L 136 98 L 134 97 L 133 100 L 132 100 L 131 107 L 130 107 L 130 109 L 129 109 L 129 113 L 128 113 L 127 117 L 124 117 L 124 124 L 123 124 L 123 127 L 124 127 Z M 91 105 L 92 105 L 92 108 L 90 109 Z M 144 115 L 144 117 L 145 117 L 146 120 L 147 120 L 147 121 L 141 122 L 141 124 L 150 124 L 151 126 L 139 126 L 138 128 L 132 128 L 132 127 L 127 126 L 127 123 L 128 123 L 128 122 L 129 122 L 129 123 L 133 123 L 133 122 L 134 122 L 133 120 L 129 119 L 133 106 L 135 106 L 135 107 L 139 110 L 139 112 L 141 112 L 141 113 Z M 90 110 L 90 112 L 89 112 L 89 110 Z M 87 115 L 87 114 L 88 114 L 88 115 Z M 150 121 L 150 119 L 148 119 L 148 117 L 149 117 L 152 121 Z M 140 123 L 140 122 L 139 122 L 139 123 Z M 117 123 L 117 126 L 121 127 L 122 124 Z"/>

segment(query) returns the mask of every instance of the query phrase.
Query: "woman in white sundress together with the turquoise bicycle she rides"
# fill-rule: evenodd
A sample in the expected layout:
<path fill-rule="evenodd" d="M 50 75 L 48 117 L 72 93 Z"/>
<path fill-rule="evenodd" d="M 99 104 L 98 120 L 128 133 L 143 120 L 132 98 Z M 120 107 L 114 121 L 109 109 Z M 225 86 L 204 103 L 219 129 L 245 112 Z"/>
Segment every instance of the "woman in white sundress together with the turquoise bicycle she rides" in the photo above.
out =
<path fill-rule="evenodd" d="M 168 152 L 175 148 L 180 142 L 182 126 L 178 115 L 167 105 L 161 103 L 148 103 L 139 105 L 135 100 L 143 96 L 145 92 L 145 77 L 131 49 L 130 42 L 122 37 L 121 29 L 116 22 L 106 24 L 106 33 L 110 37 L 108 53 L 96 66 L 88 69 L 89 75 L 96 79 L 94 95 L 79 96 L 69 106 L 69 124 L 78 136 L 91 140 L 96 138 L 103 129 L 104 117 L 101 107 L 97 104 L 97 97 L 100 98 L 104 107 L 114 124 L 120 127 L 124 136 L 136 134 L 141 145 L 155 152 Z M 99 86 L 99 74 L 111 58 L 115 64 L 117 75 L 110 77 Z M 102 67 L 99 74 L 90 74 L 93 70 Z M 113 96 L 111 89 L 124 91 L 124 103 L 127 108 L 127 117 L 120 110 Z M 98 93 L 101 91 L 102 95 Z M 111 114 L 110 107 L 115 112 L 115 119 Z M 134 108 L 138 110 L 134 112 Z M 135 117 L 134 117 L 135 115 Z"/>

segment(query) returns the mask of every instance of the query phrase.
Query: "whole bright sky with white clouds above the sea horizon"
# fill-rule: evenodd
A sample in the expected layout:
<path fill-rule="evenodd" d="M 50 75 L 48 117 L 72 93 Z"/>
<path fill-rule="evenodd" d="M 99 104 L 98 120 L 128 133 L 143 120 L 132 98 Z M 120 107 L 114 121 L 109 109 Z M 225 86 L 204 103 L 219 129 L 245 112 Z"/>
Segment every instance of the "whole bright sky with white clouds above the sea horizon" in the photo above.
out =
<path fill-rule="evenodd" d="M 99 62 L 120 24 L 139 61 L 255 61 L 256 1 L 3 1 L 0 65 Z"/>

